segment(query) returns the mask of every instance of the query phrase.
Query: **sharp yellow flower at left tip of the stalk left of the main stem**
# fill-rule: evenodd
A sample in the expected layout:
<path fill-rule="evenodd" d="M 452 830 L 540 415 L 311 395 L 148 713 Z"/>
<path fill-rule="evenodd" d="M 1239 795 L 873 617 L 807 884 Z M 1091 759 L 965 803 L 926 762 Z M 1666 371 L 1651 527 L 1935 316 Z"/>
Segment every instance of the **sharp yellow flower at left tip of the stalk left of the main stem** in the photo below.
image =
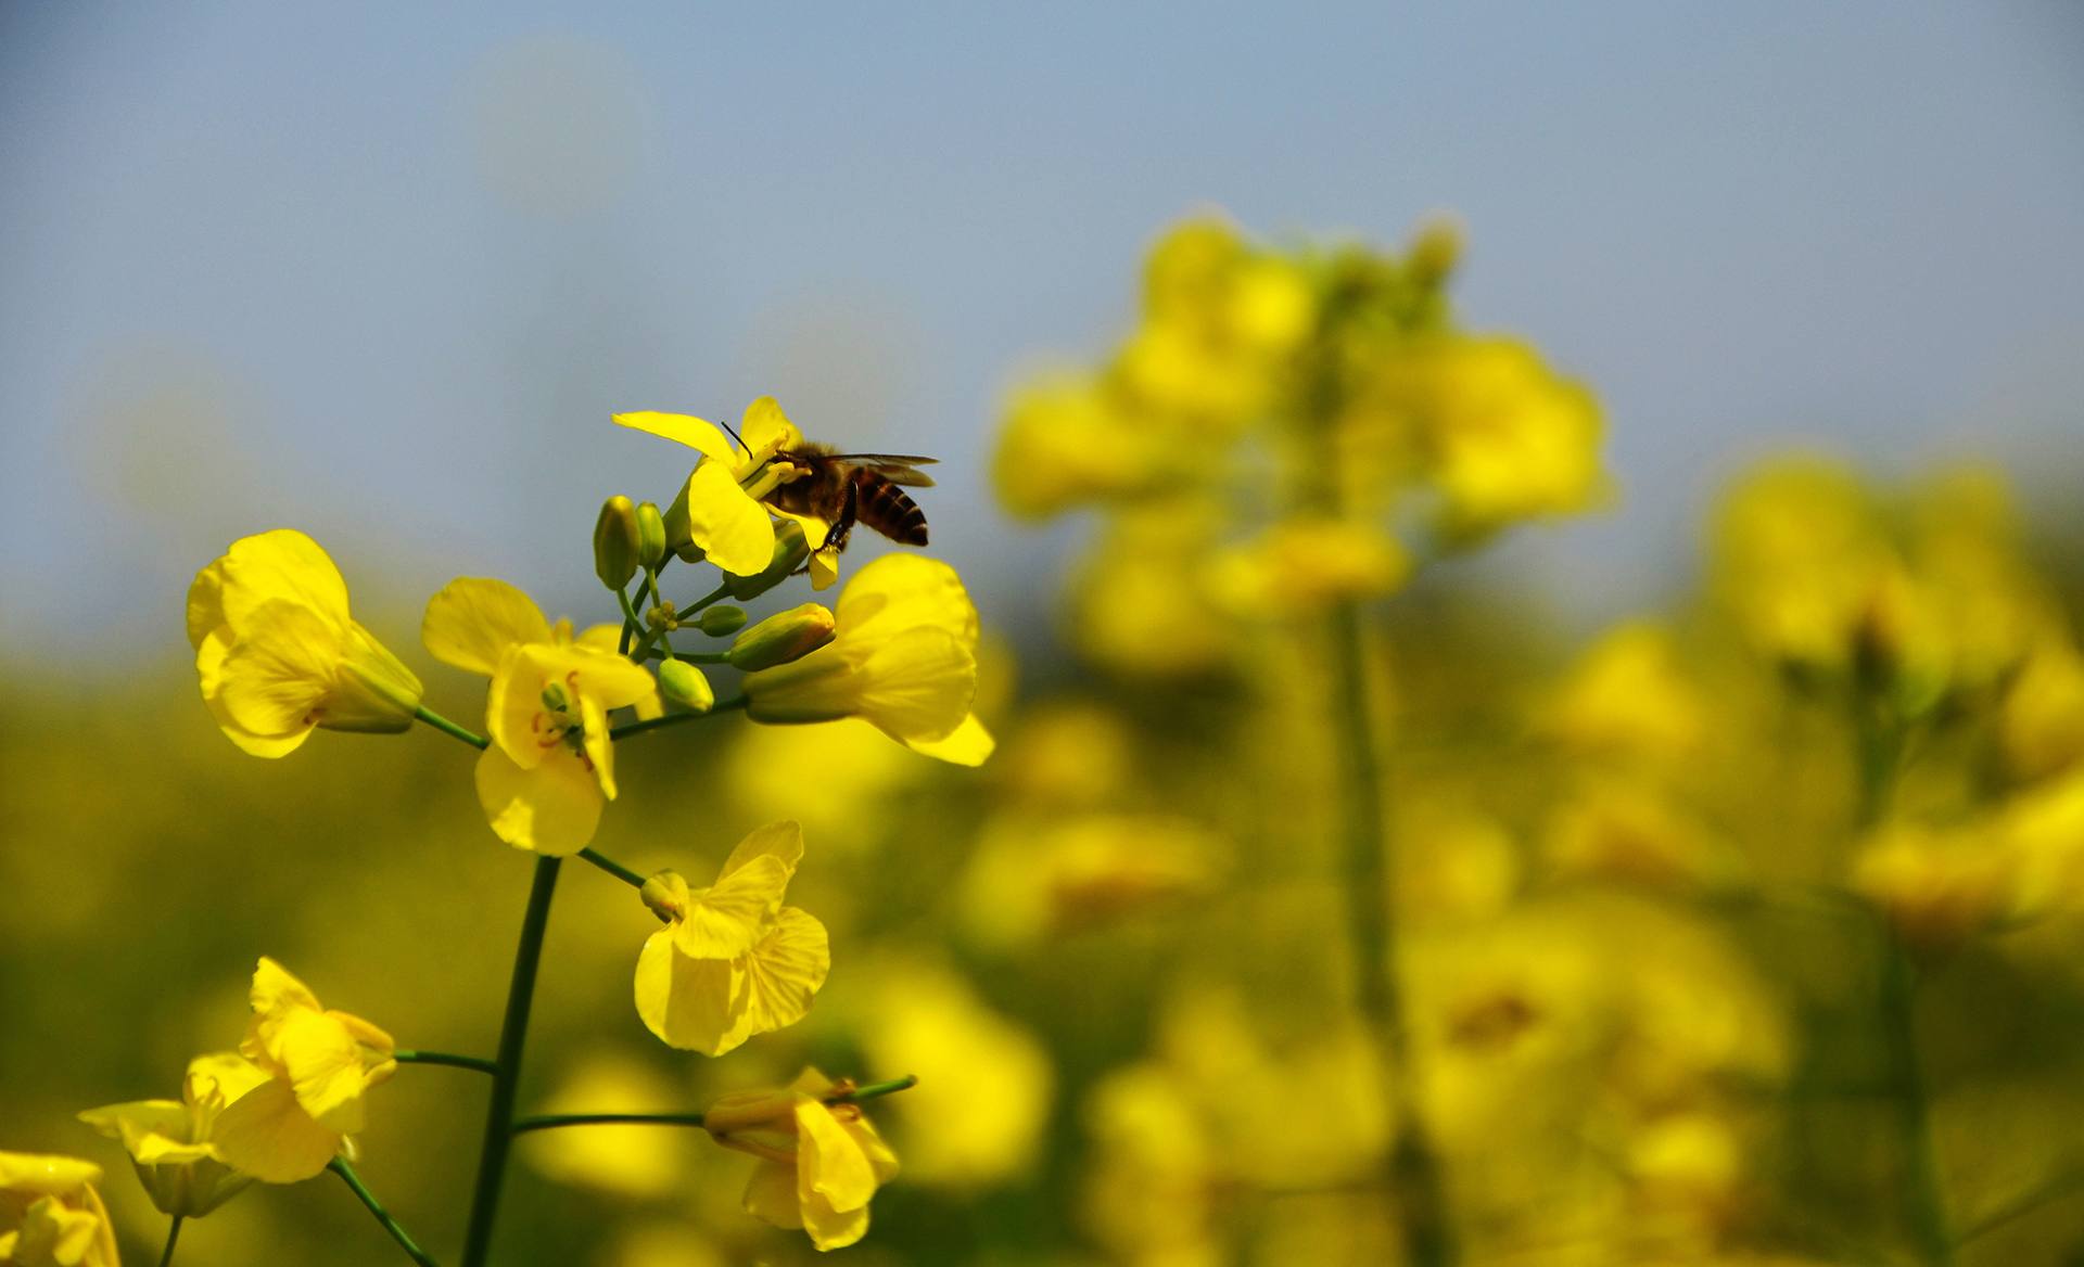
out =
<path fill-rule="evenodd" d="M 363 1129 L 363 1094 L 398 1071 L 396 1044 L 361 1017 L 319 1007 L 273 959 L 254 969 L 250 998 L 240 1052 L 267 1077 L 225 1104 L 210 1138 L 233 1169 L 294 1184 Z"/>

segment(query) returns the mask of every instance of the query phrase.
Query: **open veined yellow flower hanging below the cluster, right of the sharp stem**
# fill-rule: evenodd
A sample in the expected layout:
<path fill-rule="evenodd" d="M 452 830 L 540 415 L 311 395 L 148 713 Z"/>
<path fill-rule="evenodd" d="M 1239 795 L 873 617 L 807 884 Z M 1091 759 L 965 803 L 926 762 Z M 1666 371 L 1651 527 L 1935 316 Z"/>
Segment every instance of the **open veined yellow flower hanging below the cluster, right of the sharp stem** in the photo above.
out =
<path fill-rule="evenodd" d="M 661 1042 L 721 1057 L 794 1025 L 832 971 L 825 925 L 782 896 L 802 861 L 802 827 L 771 823 L 738 842 L 717 884 L 673 871 L 644 884 L 667 925 L 638 957 L 638 1015 Z"/>

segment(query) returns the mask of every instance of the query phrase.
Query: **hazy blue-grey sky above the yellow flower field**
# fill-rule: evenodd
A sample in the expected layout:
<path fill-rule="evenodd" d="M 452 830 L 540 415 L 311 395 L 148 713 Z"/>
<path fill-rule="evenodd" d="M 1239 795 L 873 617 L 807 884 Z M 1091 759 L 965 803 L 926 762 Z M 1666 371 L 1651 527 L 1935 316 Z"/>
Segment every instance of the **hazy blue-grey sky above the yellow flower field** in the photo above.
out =
<path fill-rule="evenodd" d="M 6 0 L 0 654 L 163 654 L 283 523 L 402 619 L 594 602 L 600 496 L 679 463 L 606 415 L 759 392 L 940 454 L 938 552 L 1040 619 L 1077 529 L 992 515 L 998 402 L 1211 204 L 1465 221 L 1469 323 L 1609 411 L 1623 502 L 1500 563 L 1586 613 L 1782 442 L 2084 479 L 2084 10 L 1273 8 Z"/>

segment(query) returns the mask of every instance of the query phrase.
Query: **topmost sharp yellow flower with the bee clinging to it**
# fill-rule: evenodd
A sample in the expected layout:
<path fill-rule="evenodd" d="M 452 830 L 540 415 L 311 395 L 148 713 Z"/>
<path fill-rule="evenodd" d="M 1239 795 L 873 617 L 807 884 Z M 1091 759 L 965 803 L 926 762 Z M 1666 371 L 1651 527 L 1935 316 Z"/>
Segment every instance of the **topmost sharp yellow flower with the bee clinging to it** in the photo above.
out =
<path fill-rule="evenodd" d="M 840 550 L 827 546 L 832 525 L 815 515 L 792 515 L 763 498 L 796 475 L 775 454 L 802 448 L 802 431 L 788 421 L 773 396 L 761 396 L 746 406 L 734 444 L 723 429 L 684 413 L 619 413 L 615 423 L 650 431 L 702 454 L 673 506 L 665 513 L 667 544 L 675 550 L 700 552 L 731 575 L 750 577 L 773 558 L 775 525 L 771 515 L 794 519 L 802 536 L 817 542 L 811 554 L 811 586 L 823 590 L 840 575 Z"/>

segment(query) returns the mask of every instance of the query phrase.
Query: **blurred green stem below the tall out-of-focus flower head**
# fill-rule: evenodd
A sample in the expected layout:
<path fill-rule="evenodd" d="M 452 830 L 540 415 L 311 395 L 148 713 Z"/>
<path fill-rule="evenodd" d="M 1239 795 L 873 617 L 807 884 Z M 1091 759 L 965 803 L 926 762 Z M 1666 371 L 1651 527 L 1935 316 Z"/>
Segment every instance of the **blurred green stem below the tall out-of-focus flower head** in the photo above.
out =
<path fill-rule="evenodd" d="M 1388 763 L 1369 702 L 1367 629 L 1357 602 L 1332 608 L 1330 642 L 1357 996 L 1361 1017 L 1388 1061 L 1386 1092 L 1396 1123 L 1386 1177 L 1403 1211 L 1405 1259 L 1413 1267 L 1450 1267 L 1457 1250 L 1446 1217 L 1446 1184 L 1413 1092 L 1411 1044 L 1396 984 L 1394 842 L 1384 804 Z"/>

